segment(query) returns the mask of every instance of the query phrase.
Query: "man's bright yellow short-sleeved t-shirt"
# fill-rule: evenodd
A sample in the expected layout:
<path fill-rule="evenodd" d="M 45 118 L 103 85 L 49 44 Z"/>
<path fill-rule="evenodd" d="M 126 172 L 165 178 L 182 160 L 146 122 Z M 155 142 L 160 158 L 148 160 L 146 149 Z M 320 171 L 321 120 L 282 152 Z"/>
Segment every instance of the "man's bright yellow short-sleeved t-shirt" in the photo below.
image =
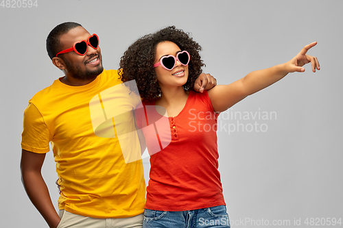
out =
<path fill-rule="evenodd" d="M 143 164 L 135 157 L 139 140 L 130 112 L 140 99 L 129 94 L 117 71 L 104 70 L 85 86 L 57 79 L 29 101 L 21 147 L 47 153 L 51 142 L 62 191 L 60 210 L 93 218 L 143 213 Z M 124 153 L 124 146 L 133 155 Z"/>

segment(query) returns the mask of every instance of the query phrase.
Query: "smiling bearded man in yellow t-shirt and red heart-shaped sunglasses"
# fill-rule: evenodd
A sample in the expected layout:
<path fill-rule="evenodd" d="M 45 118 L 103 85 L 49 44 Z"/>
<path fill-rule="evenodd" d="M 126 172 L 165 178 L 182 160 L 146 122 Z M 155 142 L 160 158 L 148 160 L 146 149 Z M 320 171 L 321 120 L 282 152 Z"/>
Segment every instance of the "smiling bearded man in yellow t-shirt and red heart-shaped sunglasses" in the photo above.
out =
<path fill-rule="evenodd" d="M 21 173 L 29 199 L 51 228 L 141 227 L 145 180 L 130 112 L 140 99 L 118 87 L 117 71 L 104 70 L 99 38 L 80 24 L 51 30 L 47 52 L 65 75 L 36 93 L 24 112 Z M 211 75 L 202 74 L 195 89 L 214 84 Z M 128 112 L 116 121 L 106 105 Z M 126 133 L 130 136 L 120 141 Z M 59 214 L 40 173 L 49 142 L 61 190 Z"/>

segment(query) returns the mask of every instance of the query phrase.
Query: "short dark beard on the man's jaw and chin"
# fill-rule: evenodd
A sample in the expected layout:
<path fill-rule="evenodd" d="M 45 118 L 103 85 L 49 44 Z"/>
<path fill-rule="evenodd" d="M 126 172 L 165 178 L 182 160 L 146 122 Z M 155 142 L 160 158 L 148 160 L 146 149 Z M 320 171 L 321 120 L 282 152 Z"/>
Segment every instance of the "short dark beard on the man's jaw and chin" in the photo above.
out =
<path fill-rule="evenodd" d="M 80 80 L 88 80 L 97 77 L 97 75 L 101 74 L 102 71 L 104 71 L 104 68 L 102 67 L 102 57 L 100 56 L 100 58 L 101 62 L 99 66 L 97 66 L 97 68 L 95 68 L 93 71 L 82 70 L 79 65 L 72 65 L 68 60 L 64 60 L 64 63 L 66 70 L 71 75 L 71 77 Z"/>

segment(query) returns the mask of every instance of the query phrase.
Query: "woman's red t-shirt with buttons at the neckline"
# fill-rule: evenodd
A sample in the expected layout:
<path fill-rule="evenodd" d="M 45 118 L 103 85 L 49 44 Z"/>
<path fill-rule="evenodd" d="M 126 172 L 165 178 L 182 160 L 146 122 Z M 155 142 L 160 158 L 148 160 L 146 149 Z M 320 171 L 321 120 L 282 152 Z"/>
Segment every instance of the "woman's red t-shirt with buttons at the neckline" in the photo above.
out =
<path fill-rule="evenodd" d="M 154 105 L 154 101 L 144 105 Z M 137 118 L 140 128 L 155 125 L 151 131 L 144 132 L 148 150 L 156 139 L 156 131 L 160 133 L 157 138 L 162 149 L 150 156 L 145 208 L 185 211 L 225 205 L 218 170 L 216 131 L 219 114 L 213 111 L 207 91 L 189 92 L 185 107 L 177 116 L 167 118 L 153 110 L 145 110 L 145 116 L 138 114 Z M 158 128 L 160 119 L 169 121 L 168 136 L 161 134 L 161 127 Z M 170 144 L 163 145 L 163 140 L 169 138 L 170 141 L 170 136 Z"/>

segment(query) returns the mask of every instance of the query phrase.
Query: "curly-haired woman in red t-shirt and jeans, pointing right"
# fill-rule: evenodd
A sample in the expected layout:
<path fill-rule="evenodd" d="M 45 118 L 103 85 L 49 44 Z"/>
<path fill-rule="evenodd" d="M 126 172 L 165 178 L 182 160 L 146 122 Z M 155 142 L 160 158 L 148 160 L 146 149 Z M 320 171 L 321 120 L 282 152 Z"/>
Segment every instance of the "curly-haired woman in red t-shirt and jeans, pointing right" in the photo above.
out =
<path fill-rule="evenodd" d="M 217 116 L 287 73 L 305 71 L 309 62 L 319 70 L 318 60 L 306 55 L 314 45 L 289 62 L 208 92 L 192 90 L 204 64 L 200 45 L 184 31 L 167 27 L 128 48 L 120 75 L 137 82 L 144 105 L 137 125 L 151 155 L 143 227 L 230 227 L 218 171 Z"/>

